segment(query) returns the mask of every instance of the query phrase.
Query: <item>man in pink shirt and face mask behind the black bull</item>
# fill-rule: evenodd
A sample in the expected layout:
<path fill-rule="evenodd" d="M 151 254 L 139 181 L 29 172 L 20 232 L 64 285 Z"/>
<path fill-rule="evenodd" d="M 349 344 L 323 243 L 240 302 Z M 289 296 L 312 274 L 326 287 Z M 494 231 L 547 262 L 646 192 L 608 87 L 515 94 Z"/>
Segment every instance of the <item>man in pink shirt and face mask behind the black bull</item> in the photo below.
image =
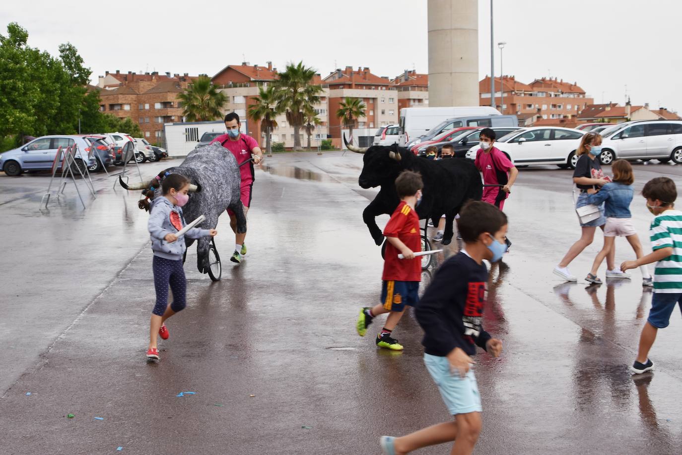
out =
<path fill-rule="evenodd" d="M 502 210 L 509 197 L 511 186 L 518 176 L 518 169 L 495 143 L 495 130 L 484 128 L 480 134 L 481 148 L 476 152 L 476 167 L 483 174 L 484 185 L 481 201 L 494 205 Z M 507 248 L 511 241 L 507 239 Z"/>

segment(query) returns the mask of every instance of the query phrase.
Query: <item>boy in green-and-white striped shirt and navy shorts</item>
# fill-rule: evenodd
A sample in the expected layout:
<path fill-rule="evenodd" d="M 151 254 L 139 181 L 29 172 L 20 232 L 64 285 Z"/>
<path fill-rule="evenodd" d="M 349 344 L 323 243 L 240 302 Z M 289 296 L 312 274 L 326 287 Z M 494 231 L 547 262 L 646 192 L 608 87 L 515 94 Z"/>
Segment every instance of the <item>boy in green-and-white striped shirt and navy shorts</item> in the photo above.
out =
<path fill-rule="evenodd" d="M 682 310 L 682 211 L 674 209 L 677 188 L 668 177 L 656 177 L 644 185 L 642 196 L 647 198 L 647 208 L 655 216 L 649 228 L 653 252 L 621 265 L 625 271 L 656 263 L 649 319 L 642 329 L 637 359 L 631 368 L 636 375 L 653 370 L 649 350 L 658 329 L 668 327 L 676 304 Z"/>

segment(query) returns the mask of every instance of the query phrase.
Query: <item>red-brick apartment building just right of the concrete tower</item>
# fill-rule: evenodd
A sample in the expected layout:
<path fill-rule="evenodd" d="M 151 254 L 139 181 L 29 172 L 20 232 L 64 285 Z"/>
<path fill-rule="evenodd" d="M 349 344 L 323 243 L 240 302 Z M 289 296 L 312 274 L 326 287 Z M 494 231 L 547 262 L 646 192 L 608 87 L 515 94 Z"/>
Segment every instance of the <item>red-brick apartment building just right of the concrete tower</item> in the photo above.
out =
<path fill-rule="evenodd" d="M 479 81 L 479 94 L 480 105 L 490 106 L 489 76 Z M 540 78 L 524 84 L 514 76 L 495 78 L 495 104 L 503 114 L 571 119 L 593 102 L 593 98 L 588 98 L 576 83 L 567 83 L 563 79 Z"/>

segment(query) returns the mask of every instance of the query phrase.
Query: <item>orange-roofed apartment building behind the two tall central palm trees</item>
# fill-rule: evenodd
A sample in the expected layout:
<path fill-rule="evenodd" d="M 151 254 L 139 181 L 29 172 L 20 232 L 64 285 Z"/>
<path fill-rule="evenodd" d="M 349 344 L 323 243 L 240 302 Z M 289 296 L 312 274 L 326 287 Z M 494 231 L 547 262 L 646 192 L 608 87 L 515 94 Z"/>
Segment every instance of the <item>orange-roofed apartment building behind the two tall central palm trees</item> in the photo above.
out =
<path fill-rule="evenodd" d="M 277 78 L 277 68 L 272 68 L 272 63 L 267 62 L 267 66 L 250 65 L 242 62 L 241 65 L 227 65 L 220 70 L 211 81 L 214 85 L 226 94 L 227 104 L 224 106 L 225 113 L 235 112 L 240 119 L 247 119 L 248 107 L 254 104 L 253 98 L 258 96 L 260 87 L 267 87 Z M 321 78 L 316 75 L 316 83 L 321 82 Z M 327 90 L 321 93 L 320 103 L 315 106 L 317 116 L 321 125 L 315 129 L 311 136 L 311 145 L 316 147 L 318 140 L 327 138 Z M 283 142 L 284 147 L 291 148 L 294 145 L 294 129 L 286 122 L 286 115 L 277 117 L 278 126 L 272 132 L 272 141 Z M 265 130 L 261 128 L 261 123 L 248 119 L 249 134 L 256 138 L 256 141 L 265 145 Z M 306 147 L 308 136 L 301 128 L 299 131 L 301 145 Z"/>

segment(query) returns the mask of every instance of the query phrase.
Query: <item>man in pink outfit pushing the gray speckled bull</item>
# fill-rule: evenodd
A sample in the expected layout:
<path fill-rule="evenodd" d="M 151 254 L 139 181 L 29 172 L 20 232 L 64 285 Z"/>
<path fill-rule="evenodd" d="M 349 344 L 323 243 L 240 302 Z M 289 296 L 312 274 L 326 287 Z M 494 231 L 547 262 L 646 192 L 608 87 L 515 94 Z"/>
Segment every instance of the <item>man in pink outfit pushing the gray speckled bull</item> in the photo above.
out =
<path fill-rule="evenodd" d="M 237 158 L 237 164 L 250 160 L 252 154 L 254 155 L 252 162 L 244 164 L 240 168 L 241 203 L 244 205 L 244 215 L 246 215 L 251 205 L 251 190 L 255 179 L 254 163 L 263 162 L 263 151 L 261 151 L 261 147 L 258 147 L 258 143 L 254 138 L 239 132 L 241 122 L 237 113 L 231 112 L 225 116 L 225 128 L 227 129 L 227 134 L 222 134 L 222 136 L 213 139 L 211 144 L 220 143 L 220 145 L 231 151 L 235 158 Z M 235 214 L 230 209 L 228 209 L 227 213 L 230 216 L 230 227 L 235 233 L 235 252 L 230 260 L 241 263 L 241 256 L 246 254 L 246 244 L 244 244 L 246 233 L 237 233 L 237 218 L 235 218 Z"/>

